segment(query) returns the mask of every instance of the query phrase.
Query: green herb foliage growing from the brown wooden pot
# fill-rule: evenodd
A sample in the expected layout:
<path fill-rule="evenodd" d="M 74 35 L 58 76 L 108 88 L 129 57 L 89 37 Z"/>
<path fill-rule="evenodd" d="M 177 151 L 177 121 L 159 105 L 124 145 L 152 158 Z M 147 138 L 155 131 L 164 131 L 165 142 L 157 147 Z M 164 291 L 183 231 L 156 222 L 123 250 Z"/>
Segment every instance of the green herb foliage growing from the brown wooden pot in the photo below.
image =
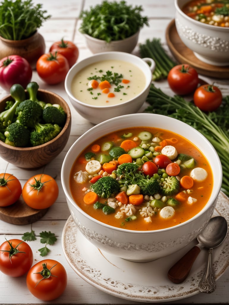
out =
<path fill-rule="evenodd" d="M 43 21 L 45 16 L 42 4 L 33 5 L 32 0 L 4 0 L 0 2 L 0 36 L 10 40 L 22 40 L 30 37 Z"/>

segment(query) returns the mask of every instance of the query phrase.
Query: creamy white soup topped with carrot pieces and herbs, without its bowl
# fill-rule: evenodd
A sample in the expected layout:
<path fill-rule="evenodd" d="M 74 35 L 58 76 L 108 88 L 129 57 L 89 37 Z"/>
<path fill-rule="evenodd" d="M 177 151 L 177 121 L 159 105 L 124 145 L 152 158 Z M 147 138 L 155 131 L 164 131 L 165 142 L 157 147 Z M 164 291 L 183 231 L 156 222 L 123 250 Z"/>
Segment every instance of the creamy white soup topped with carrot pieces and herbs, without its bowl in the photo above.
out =
<path fill-rule="evenodd" d="M 116 105 L 133 99 L 146 79 L 136 65 L 121 60 L 104 60 L 80 70 L 72 80 L 72 94 L 89 105 Z"/>

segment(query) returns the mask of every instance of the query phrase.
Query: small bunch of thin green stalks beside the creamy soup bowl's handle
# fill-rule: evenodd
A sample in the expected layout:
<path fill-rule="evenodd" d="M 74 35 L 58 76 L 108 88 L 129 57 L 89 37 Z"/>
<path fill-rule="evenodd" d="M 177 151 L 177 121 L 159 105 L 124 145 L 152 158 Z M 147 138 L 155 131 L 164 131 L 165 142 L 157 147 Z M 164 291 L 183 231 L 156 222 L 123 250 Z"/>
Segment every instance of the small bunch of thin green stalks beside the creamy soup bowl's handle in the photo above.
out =
<path fill-rule="evenodd" d="M 168 72 L 176 65 L 176 63 L 165 52 L 160 39 L 153 38 L 151 41 L 147 39 L 145 44 L 139 45 L 139 48 L 141 58 L 152 58 L 156 64 L 152 80 L 159 81 L 167 78 Z"/>

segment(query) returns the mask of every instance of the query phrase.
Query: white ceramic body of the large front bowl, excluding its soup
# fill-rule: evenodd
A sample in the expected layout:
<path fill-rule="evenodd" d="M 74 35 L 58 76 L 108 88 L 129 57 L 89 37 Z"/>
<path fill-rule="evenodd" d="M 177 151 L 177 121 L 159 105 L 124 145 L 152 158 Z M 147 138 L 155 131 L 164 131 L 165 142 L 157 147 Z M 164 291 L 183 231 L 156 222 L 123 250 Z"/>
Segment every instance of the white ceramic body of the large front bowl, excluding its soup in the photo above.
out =
<path fill-rule="evenodd" d="M 137 231 L 104 224 L 85 213 L 73 199 L 70 173 L 77 157 L 103 135 L 130 127 L 157 127 L 172 131 L 193 143 L 210 163 L 213 186 L 210 198 L 194 217 L 173 227 Z M 102 251 L 123 259 L 145 262 L 165 257 L 185 247 L 195 239 L 210 220 L 222 182 L 222 167 L 217 152 L 210 142 L 193 127 L 174 118 L 150 113 L 137 113 L 112 118 L 85 132 L 71 146 L 61 169 L 61 183 L 71 216 L 79 230 Z M 204 186 L 204 185 L 203 185 Z"/>

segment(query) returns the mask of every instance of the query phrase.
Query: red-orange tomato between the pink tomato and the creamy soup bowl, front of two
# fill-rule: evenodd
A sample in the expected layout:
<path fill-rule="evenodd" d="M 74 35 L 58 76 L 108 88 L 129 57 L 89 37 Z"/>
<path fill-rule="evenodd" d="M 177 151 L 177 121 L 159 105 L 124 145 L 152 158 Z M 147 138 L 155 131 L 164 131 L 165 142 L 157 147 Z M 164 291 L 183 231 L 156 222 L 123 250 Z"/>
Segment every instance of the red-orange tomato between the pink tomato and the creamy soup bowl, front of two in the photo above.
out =
<path fill-rule="evenodd" d="M 49 85 L 64 81 L 68 70 L 68 60 L 57 52 L 43 54 L 36 62 L 37 74 Z"/>

